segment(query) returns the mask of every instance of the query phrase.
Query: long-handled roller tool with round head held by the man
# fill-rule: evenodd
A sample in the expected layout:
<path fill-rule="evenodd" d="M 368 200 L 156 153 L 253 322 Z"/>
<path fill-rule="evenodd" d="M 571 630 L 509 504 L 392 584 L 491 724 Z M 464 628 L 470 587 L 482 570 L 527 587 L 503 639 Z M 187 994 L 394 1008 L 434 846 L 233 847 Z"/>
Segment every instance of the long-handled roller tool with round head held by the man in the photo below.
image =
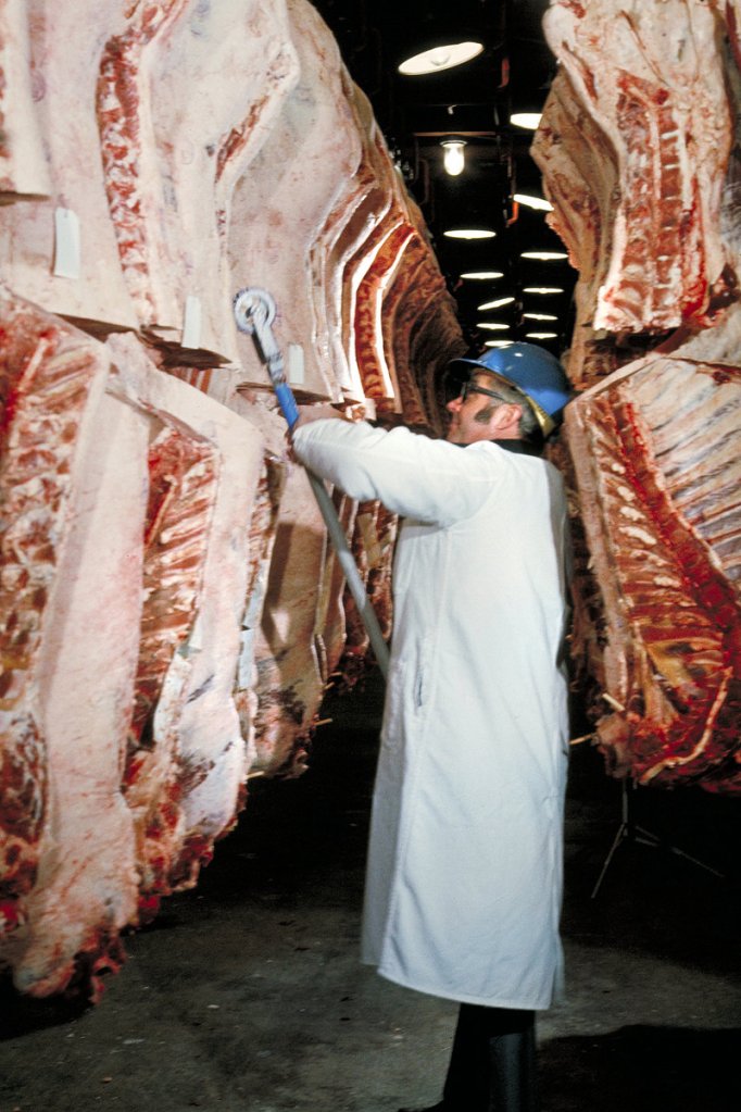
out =
<path fill-rule="evenodd" d="M 283 357 L 272 330 L 272 322 L 276 319 L 276 302 L 267 290 L 249 287 L 240 289 L 239 292 L 234 295 L 233 309 L 234 320 L 237 321 L 239 330 L 241 332 L 248 332 L 256 340 L 258 351 L 268 368 L 268 375 L 270 376 L 270 381 L 272 383 L 276 391 L 278 404 L 288 423 L 290 431 L 299 419 L 299 410 L 296 404 L 296 398 L 293 397 L 293 391 L 286 379 Z M 344 572 L 348 587 L 350 588 L 350 593 L 352 594 L 356 606 L 358 607 L 363 625 L 368 632 L 368 636 L 370 637 L 375 659 L 378 661 L 378 665 L 383 674 L 383 677 L 385 678 L 389 672 L 389 649 L 385 641 L 383 639 L 381 627 L 378 624 L 375 610 L 371 606 L 368 595 L 366 594 L 366 587 L 360 578 L 360 572 L 358 570 L 356 562 L 352 558 L 352 553 L 348 546 L 344 530 L 340 525 L 337 510 L 334 509 L 334 503 L 327 493 L 327 487 L 322 480 L 308 469 L 307 475 L 309 477 L 311 489 L 317 498 L 317 503 L 319 504 L 321 515 L 324 518 L 330 540 L 334 545 L 340 566 Z"/>

